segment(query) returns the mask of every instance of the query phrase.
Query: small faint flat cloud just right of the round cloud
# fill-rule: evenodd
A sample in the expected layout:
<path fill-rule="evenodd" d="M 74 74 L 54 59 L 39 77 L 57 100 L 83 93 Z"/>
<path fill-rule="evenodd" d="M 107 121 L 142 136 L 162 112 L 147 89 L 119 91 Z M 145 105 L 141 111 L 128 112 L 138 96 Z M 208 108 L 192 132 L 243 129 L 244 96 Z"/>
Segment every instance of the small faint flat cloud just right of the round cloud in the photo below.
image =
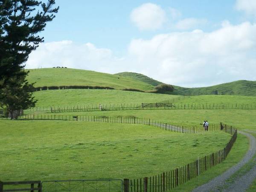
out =
<path fill-rule="evenodd" d="M 181 30 L 195 29 L 198 26 L 205 25 L 206 23 L 207 23 L 206 19 L 185 18 L 183 20 L 179 20 L 175 24 L 175 28 L 181 29 Z"/>

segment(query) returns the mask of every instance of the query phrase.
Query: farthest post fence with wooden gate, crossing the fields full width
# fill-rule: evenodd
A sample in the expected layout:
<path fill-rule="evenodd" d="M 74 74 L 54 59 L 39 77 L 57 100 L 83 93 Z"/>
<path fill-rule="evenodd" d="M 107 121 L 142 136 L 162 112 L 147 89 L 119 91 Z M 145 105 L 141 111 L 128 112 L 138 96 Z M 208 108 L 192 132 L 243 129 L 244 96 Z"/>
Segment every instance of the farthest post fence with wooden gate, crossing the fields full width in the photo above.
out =
<path fill-rule="evenodd" d="M 99 108 L 101 105 L 101 109 Z M 122 111 L 122 110 L 148 110 L 148 109 L 239 109 L 239 110 L 256 110 L 256 104 L 222 104 L 222 103 L 175 103 L 175 102 L 158 102 L 158 103 L 141 103 L 141 104 L 99 104 L 99 105 L 76 105 L 76 106 L 40 106 L 24 110 L 24 112 L 82 112 L 82 111 Z"/>

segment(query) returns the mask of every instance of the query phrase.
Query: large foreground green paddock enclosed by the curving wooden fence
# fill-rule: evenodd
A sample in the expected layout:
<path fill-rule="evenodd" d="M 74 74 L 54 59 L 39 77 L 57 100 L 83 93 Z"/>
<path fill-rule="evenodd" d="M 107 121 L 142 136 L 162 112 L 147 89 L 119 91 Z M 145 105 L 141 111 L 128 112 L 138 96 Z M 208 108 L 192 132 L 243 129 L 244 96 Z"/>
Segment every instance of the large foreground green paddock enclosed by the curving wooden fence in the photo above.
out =
<path fill-rule="evenodd" d="M 0 120 L 0 124 L 5 181 L 150 176 L 218 151 L 231 137 L 223 132 L 177 134 L 132 124 L 40 120 Z"/>

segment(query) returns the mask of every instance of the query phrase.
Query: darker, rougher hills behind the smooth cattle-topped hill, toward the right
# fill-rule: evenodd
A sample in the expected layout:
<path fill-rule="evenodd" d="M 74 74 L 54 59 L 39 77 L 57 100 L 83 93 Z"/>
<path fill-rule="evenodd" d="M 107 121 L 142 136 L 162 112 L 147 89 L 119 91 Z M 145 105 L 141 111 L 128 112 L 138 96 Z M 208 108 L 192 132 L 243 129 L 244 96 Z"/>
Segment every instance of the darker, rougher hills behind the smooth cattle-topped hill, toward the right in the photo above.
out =
<path fill-rule="evenodd" d="M 157 86 L 162 82 L 154 80 L 140 73 L 123 72 L 116 73 L 119 76 L 131 77 L 139 81 Z M 172 94 L 177 95 L 241 95 L 256 96 L 256 81 L 239 80 L 230 83 L 218 84 L 210 87 L 186 88 L 174 86 Z"/>

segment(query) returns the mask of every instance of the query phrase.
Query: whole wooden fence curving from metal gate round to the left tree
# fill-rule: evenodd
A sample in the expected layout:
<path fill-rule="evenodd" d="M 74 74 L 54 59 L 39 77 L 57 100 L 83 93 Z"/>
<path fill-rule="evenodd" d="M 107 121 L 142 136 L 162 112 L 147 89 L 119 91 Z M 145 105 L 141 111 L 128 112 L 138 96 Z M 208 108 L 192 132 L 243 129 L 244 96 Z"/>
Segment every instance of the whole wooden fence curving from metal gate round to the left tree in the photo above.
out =
<path fill-rule="evenodd" d="M 63 116 L 63 115 L 23 115 L 20 119 L 35 119 L 35 120 L 70 120 L 70 121 L 86 121 L 86 122 L 109 122 L 109 123 L 131 123 L 156 126 L 165 130 L 175 131 L 179 133 L 194 134 L 205 132 L 202 127 L 184 127 L 170 125 L 159 122 L 153 119 L 124 117 L 124 116 Z M 224 131 L 232 135 L 229 143 L 224 149 L 198 158 L 192 163 L 185 166 L 180 166 L 171 171 L 163 172 L 150 177 L 138 179 L 124 179 L 124 192 L 166 192 L 177 186 L 186 183 L 211 167 L 224 161 L 227 154 L 230 152 L 233 143 L 236 141 L 237 130 L 230 125 L 223 123 L 210 124 L 209 131 Z"/>

